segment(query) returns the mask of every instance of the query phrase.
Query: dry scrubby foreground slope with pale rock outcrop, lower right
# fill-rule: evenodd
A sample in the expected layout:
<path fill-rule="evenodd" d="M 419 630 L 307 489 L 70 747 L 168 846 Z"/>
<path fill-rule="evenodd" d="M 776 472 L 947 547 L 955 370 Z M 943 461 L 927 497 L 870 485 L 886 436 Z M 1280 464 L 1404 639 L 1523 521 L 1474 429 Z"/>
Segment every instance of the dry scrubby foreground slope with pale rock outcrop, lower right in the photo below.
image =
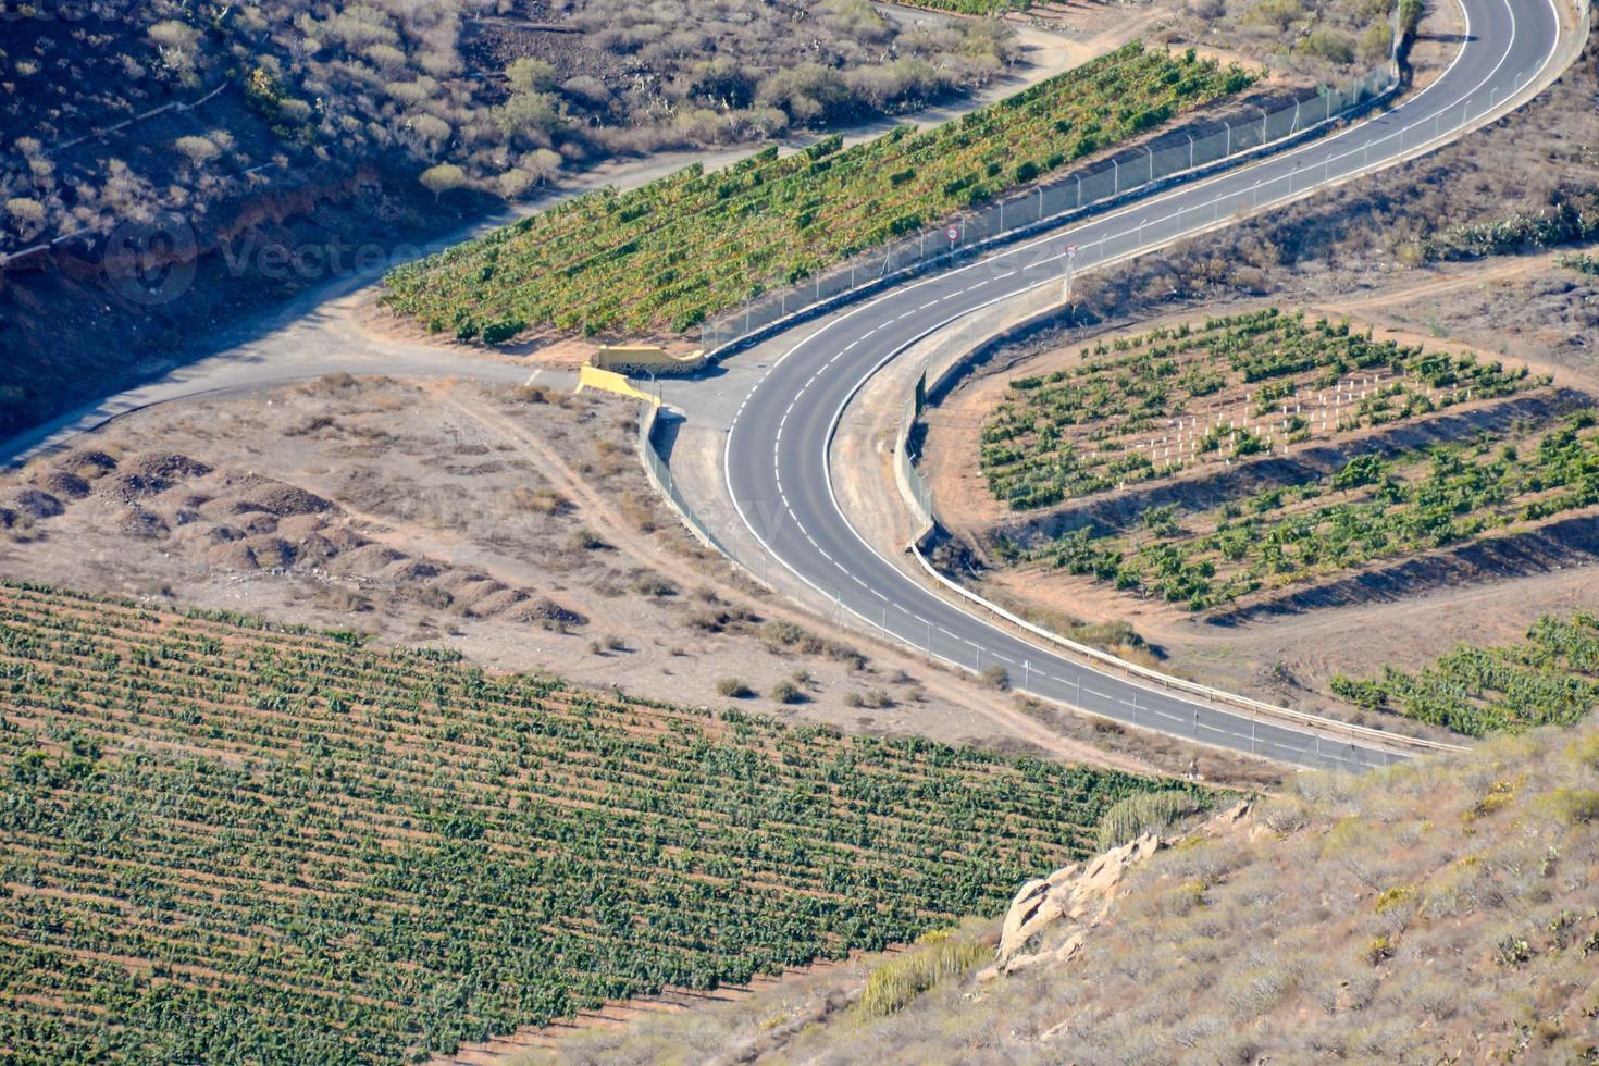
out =
<path fill-rule="evenodd" d="M 1540 730 L 1364 778 L 1305 775 L 1030 882 L 1004 919 L 827 986 L 779 984 L 560 1053 L 1589 1061 L 1596 884 L 1599 727 Z M 804 1012 L 809 1028 L 760 1036 Z"/>

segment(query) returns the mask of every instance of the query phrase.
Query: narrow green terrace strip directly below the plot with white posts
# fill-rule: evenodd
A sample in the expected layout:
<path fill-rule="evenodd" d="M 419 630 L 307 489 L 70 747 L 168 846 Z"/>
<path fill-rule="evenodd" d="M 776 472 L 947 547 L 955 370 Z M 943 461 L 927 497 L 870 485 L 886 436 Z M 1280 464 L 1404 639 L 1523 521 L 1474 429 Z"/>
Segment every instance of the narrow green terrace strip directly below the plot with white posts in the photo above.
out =
<path fill-rule="evenodd" d="M 1599 430 L 1588 411 L 1527 447 L 1468 444 L 1370 452 L 1326 478 L 1178 515 L 1150 508 L 1135 531 L 1081 526 L 1012 561 L 1087 574 L 1204 611 L 1262 588 L 1377 559 L 1481 540 L 1599 503 Z"/>

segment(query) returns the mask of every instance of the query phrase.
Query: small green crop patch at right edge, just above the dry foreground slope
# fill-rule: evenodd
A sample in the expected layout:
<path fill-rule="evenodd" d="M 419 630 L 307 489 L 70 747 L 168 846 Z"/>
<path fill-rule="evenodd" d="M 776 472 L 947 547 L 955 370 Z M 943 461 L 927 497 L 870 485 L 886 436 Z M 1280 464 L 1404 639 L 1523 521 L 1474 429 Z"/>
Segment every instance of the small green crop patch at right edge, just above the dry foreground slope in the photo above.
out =
<path fill-rule="evenodd" d="M 1332 679 L 1340 698 L 1386 708 L 1471 737 L 1570 726 L 1599 702 L 1599 619 L 1543 617 L 1505 647 L 1461 644 L 1420 673 L 1393 666 L 1370 681 Z"/>

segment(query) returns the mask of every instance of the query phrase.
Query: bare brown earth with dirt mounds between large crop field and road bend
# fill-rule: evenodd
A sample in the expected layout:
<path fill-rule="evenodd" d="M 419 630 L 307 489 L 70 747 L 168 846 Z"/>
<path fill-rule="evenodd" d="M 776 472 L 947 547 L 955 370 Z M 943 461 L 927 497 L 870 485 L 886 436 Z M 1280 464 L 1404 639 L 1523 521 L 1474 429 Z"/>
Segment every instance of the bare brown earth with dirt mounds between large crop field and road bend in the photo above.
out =
<path fill-rule="evenodd" d="M 1006 694 L 846 646 L 689 539 L 649 489 L 635 427 L 616 398 L 347 376 L 161 404 L 0 479 L 0 574 L 852 732 L 1186 766 L 1099 751 Z M 803 695 L 732 700 L 724 679 Z"/>

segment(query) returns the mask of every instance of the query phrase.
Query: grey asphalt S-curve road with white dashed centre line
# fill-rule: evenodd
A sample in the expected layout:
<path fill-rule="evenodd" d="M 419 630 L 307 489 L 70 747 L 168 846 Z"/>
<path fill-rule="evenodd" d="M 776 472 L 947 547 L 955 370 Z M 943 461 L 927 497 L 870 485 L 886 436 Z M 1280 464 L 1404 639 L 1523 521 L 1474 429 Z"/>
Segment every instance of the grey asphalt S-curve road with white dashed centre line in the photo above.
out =
<path fill-rule="evenodd" d="M 1035 695 L 1202 743 L 1306 767 L 1362 770 L 1399 756 L 1289 721 L 1255 719 L 1180 692 L 1081 665 L 967 614 L 878 555 L 833 494 L 828 452 L 860 385 L 918 339 L 988 304 L 1076 268 L 1121 259 L 1244 213 L 1358 176 L 1447 139 L 1511 99 L 1553 62 L 1554 0 L 1461 0 L 1465 43 L 1422 93 L 1335 136 L 1086 219 L 966 267 L 897 288 L 811 329 L 744 398 L 728 432 L 723 475 L 739 516 L 788 571 L 841 609 L 948 663 L 1003 666 Z"/>

